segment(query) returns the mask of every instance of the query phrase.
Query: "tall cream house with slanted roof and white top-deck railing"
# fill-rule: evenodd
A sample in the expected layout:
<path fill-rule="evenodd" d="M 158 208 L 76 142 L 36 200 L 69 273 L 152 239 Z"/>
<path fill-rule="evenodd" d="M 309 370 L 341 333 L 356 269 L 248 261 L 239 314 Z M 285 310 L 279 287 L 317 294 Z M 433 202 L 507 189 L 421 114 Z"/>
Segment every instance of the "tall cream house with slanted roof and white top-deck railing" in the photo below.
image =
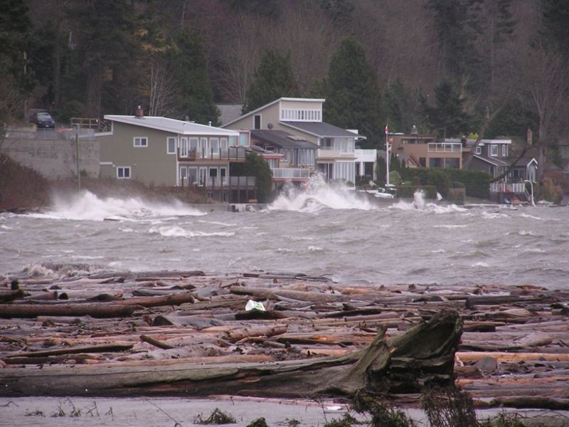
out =
<path fill-rule="evenodd" d="M 323 122 L 324 102 L 324 99 L 281 97 L 223 127 L 235 131 L 280 130 L 299 137 L 317 146 L 314 167 L 326 181 L 353 185 L 356 182 L 357 135 Z"/>

